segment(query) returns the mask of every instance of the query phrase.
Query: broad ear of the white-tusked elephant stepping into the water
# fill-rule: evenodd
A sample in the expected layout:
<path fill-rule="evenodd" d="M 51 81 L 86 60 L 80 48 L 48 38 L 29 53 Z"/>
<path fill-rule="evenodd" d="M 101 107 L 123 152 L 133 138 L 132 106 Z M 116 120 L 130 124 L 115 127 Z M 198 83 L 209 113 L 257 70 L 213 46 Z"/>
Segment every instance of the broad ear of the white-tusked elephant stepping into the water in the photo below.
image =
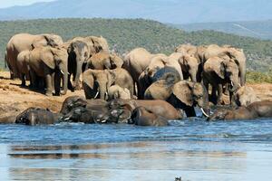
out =
<path fill-rule="evenodd" d="M 188 81 L 179 81 L 173 87 L 173 94 L 187 106 L 193 106 L 192 90 Z"/>

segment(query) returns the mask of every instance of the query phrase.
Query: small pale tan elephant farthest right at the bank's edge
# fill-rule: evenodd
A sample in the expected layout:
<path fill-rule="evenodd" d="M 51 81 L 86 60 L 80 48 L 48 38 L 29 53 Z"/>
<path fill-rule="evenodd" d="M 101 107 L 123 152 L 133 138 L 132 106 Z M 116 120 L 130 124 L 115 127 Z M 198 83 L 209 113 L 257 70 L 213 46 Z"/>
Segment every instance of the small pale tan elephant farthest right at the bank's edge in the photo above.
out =
<path fill-rule="evenodd" d="M 231 103 L 233 106 L 248 106 L 249 104 L 259 101 L 255 91 L 248 86 L 242 86 L 234 92 Z"/>

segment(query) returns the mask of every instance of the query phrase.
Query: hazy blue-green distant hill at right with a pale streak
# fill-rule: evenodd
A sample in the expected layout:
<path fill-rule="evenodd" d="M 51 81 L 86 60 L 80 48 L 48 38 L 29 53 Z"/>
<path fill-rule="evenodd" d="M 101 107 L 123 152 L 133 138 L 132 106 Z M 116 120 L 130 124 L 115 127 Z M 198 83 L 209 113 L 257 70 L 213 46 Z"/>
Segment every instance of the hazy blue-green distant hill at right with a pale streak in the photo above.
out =
<path fill-rule="evenodd" d="M 214 30 L 223 33 L 234 33 L 242 36 L 272 40 L 272 20 L 170 25 L 189 32 Z"/>

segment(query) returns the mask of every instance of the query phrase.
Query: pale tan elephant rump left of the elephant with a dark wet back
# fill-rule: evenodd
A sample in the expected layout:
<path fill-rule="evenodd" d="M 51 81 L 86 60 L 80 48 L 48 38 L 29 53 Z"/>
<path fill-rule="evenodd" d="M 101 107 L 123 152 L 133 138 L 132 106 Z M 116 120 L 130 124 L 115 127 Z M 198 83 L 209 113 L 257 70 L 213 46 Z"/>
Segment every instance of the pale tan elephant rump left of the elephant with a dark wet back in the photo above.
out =
<path fill-rule="evenodd" d="M 163 54 L 161 53 L 152 54 L 151 52 L 148 52 L 144 48 L 135 48 L 131 50 L 131 52 L 125 55 L 122 68 L 131 73 L 131 77 L 133 79 L 133 85 L 135 85 L 136 83 L 137 89 L 141 87 L 138 81 L 141 75 L 141 72 L 144 71 L 149 66 L 151 59 L 157 55 L 163 55 Z M 135 87 L 134 87 L 134 90 L 136 91 Z M 138 94 L 138 98 L 142 99 L 141 98 L 142 96 L 139 95 L 139 90 L 137 94 Z M 135 95 L 136 95 L 136 92 L 135 92 Z"/>

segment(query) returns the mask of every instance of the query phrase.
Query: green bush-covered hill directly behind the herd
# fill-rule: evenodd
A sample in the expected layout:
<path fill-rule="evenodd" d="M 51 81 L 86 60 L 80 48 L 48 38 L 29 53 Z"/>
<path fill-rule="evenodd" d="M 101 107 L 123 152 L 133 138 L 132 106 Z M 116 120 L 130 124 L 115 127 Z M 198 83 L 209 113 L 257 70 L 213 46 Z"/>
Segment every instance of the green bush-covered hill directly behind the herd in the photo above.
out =
<path fill-rule="evenodd" d="M 102 35 L 120 53 L 135 47 L 151 52 L 173 52 L 180 43 L 231 44 L 243 48 L 248 57 L 248 70 L 268 71 L 272 62 L 272 42 L 255 38 L 197 31 L 187 33 L 166 24 L 143 19 L 40 19 L 0 22 L 0 66 L 4 66 L 5 44 L 15 33 L 57 33 L 68 40 L 74 36 Z"/>

